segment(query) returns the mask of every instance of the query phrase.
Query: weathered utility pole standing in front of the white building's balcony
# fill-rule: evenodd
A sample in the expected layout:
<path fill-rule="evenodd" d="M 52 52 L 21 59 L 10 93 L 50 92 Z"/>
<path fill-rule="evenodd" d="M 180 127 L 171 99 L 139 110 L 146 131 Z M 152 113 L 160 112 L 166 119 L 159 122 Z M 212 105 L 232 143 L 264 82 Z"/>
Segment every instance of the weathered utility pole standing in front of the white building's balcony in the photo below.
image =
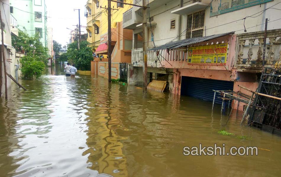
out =
<path fill-rule="evenodd" d="M 143 0 L 143 96 L 147 93 L 147 23 L 146 0 Z"/>

